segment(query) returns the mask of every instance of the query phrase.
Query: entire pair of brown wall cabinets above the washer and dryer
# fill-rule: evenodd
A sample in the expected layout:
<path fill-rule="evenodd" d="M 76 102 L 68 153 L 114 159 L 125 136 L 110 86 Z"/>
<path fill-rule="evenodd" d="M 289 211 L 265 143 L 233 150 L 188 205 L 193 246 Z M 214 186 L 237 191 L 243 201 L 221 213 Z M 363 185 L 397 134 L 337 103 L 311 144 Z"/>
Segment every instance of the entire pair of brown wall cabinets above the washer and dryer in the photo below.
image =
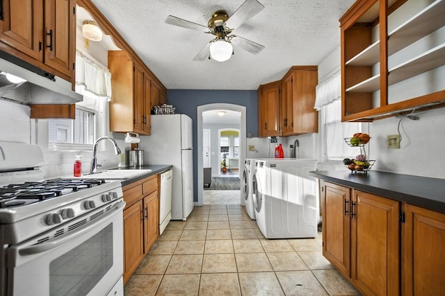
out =
<path fill-rule="evenodd" d="M 314 109 L 316 66 L 293 66 L 282 80 L 258 89 L 259 137 L 292 136 L 318 132 Z"/>

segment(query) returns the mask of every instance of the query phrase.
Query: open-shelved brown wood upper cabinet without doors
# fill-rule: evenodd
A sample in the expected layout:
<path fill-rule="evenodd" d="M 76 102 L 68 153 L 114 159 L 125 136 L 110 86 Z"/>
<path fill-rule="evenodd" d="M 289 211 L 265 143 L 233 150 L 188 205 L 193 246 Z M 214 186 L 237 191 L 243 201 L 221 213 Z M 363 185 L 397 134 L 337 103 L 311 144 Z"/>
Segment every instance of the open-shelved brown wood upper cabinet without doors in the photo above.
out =
<path fill-rule="evenodd" d="M 341 17 L 342 121 L 442 107 L 445 1 L 357 0 Z"/>

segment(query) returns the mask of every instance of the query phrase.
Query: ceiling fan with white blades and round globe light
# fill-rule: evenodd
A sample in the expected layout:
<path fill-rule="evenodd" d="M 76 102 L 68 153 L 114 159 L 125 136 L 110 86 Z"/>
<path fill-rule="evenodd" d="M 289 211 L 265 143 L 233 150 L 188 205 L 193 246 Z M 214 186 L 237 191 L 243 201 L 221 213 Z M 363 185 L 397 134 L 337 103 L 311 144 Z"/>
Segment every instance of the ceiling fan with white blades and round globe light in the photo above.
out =
<path fill-rule="evenodd" d="M 207 26 L 186 21 L 172 15 L 165 19 L 165 23 L 215 35 L 215 38 L 210 40 L 193 60 L 203 61 L 207 58 L 213 58 L 213 60 L 218 62 L 224 62 L 229 60 L 234 53 L 232 44 L 254 54 L 264 49 L 264 46 L 261 44 L 232 34 L 238 26 L 244 24 L 245 21 L 257 15 L 263 9 L 264 6 L 257 0 L 246 0 L 231 17 L 227 15 L 225 10 L 213 12 Z"/>

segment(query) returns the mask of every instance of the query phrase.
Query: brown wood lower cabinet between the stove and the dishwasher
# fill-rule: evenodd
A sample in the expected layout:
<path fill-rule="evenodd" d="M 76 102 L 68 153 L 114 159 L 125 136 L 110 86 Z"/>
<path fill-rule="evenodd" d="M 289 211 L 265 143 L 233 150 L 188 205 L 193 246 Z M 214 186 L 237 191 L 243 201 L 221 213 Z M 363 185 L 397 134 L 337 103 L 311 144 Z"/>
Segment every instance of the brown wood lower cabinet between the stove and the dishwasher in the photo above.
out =
<path fill-rule="evenodd" d="M 123 186 L 124 284 L 159 236 L 157 175 Z"/>

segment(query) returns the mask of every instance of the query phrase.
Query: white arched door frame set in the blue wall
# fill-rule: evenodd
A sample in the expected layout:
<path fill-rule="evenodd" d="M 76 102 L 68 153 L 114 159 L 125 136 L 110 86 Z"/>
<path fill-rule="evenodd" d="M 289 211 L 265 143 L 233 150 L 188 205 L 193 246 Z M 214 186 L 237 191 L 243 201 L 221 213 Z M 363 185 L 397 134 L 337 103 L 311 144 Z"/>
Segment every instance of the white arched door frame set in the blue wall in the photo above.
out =
<path fill-rule="evenodd" d="M 234 105 L 228 103 L 214 103 L 197 106 L 197 202 L 195 205 L 204 204 L 204 180 L 202 172 L 202 112 L 210 110 L 232 110 L 241 112 L 240 132 L 239 132 L 239 172 L 244 166 L 245 155 L 247 153 L 247 139 L 246 139 L 246 123 L 245 123 L 245 106 Z M 241 178 L 240 178 L 241 186 Z M 240 187 L 241 188 L 241 187 Z M 244 198 L 240 190 L 240 203 L 243 204 Z"/>

